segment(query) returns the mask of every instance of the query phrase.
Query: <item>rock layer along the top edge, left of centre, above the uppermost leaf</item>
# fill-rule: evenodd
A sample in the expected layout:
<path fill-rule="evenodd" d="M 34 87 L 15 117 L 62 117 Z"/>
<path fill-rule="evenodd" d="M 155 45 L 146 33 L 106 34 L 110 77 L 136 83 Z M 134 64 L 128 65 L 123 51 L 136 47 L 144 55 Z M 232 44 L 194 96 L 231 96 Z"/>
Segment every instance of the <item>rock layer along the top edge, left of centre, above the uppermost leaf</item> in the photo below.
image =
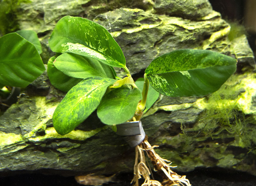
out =
<path fill-rule="evenodd" d="M 108 2 L 105 0 L 35 0 L 30 3 L 21 3 L 17 12 L 17 21 L 21 30 L 34 30 L 39 35 L 46 35 L 54 29 L 58 20 L 66 15 L 93 19 L 101 13 L 120 7 L 148 9 L 152 7 L 152 2 L 150 0 L 120 1 L 119 3 L 114 0 Z"/>

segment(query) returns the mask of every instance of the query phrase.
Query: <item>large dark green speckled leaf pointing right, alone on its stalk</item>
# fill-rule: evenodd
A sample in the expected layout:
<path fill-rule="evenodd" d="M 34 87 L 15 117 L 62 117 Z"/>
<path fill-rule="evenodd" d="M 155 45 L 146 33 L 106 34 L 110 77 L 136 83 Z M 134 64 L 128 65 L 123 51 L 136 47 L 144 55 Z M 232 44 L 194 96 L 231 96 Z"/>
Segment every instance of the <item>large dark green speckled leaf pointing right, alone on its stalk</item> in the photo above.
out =
<path fill-rule="evenodd" d="M 154 59 L 145 73 L 166 96 L 203 96 L 215 92 L 236 71 L 236 59 L 209 50 L 184 49 Z"/>

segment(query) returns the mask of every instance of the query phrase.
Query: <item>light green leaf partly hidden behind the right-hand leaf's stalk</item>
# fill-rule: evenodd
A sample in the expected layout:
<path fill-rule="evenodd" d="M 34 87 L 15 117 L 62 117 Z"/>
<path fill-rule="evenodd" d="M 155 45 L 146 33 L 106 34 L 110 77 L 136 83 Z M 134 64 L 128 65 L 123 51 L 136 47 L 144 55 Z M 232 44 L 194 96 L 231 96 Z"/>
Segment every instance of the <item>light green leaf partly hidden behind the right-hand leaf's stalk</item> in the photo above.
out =
<path fill-rule="evenodd" d="M 138 89 L 142 92 L 143 85 L 144 85 L 144 78 L 138 78 L 135 81 L 135 84 L 137 85 Z M 158 99 L 159 92 L 157 92 L 154 88 L 151 86 L 148 87 L 148 93 L 147 93 L 147 100 L 146 100 L 146 109 L 144 112 L 146 112 Z"/>

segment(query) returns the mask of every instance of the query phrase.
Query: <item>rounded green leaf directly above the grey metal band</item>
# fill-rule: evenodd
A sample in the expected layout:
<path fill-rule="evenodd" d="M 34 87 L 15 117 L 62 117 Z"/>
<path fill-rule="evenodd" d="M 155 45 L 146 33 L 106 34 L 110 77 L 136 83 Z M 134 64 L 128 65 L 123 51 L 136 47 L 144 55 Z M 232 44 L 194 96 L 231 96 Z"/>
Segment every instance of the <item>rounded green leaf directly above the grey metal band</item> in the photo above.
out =
<path fill-rule="evenodd" d="M 141 92 L 137 88 L 116 88 L 102 98 L 97 115 L 107 125 L 124 123 L 134 116 L 141 99 Z"/>

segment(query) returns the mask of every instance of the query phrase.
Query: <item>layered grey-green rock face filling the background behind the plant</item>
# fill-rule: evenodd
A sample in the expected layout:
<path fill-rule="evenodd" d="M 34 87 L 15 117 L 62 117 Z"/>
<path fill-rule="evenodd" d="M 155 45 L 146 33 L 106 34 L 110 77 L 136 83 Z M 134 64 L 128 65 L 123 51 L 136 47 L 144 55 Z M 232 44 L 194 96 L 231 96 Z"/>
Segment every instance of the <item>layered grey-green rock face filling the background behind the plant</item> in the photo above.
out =
<path fill-rule="evenodd" d="M 157 153 L 178 165 L 176 170 L 217 166 L 256 175 L 253 53 L 245 35 L 228 39 L 229 24 L 207 0 L 37 0 L 19 10 L 20 28 L 38 33 L 45 63 L 54 55 L 49 35 L 66 15 L 108 29 L 136 77 L 143 76 L 155 57 L 175 49 L 209 49 L 237 58 L 240 74 L 220 90 L 201 98 L 160 96 L 142 123 L 152 145 L 160 145 Z M 65 93 L 49 83 L 47 74 L 24 91 L 0 116 L 0 175 L 24 170 L 62 175 L 133 171 L 133 149 L 95 114 L 70 134 L 55 132 L 52 114 Z"/>

